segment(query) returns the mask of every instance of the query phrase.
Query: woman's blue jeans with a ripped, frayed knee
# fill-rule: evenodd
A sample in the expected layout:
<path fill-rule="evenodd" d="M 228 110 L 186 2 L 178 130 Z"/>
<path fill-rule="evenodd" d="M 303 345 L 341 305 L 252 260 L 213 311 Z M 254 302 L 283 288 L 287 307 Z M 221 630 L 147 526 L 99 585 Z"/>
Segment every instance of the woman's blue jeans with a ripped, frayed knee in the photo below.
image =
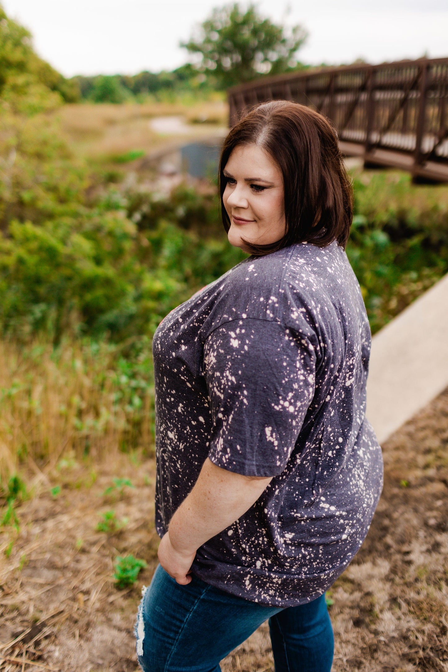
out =
<path fill-rule="evenodd" d="M 138 662 L 144 672 L 220 672 L 220 661 L 268 618 L 275 672 L 330 672 L 325 595 L 298 607 L 267 607 L 195 576 L 181 586 L 159 565 L 138 610 Z"/>

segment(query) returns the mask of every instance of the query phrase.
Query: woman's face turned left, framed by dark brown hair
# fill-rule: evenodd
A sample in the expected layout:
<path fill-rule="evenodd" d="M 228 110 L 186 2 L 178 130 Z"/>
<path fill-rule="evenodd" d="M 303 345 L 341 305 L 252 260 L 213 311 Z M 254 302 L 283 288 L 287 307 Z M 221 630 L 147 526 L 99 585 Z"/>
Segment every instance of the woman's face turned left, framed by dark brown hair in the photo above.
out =
<path fill-rule="evenodd" d="M 242 144 L 230 155 L 224 175 L 224 208 L 230 219 L 228 241 L 244 249 L 275 243 L 285 233 L 283 177 L 275 161 L 257 144 Z"/>

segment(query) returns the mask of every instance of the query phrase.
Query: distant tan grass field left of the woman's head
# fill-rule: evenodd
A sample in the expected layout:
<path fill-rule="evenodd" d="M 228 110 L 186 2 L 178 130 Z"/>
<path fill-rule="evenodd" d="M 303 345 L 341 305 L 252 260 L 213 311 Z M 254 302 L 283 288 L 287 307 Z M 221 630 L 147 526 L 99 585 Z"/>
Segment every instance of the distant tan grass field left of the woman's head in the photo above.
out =
<path fill-rule="evenodd" d="M 101 159 L 132 150 L 150 153 L 161 149 L 169 138 L 154 132 L 150 120 L 161 116 L 181 116 L 191 125 L 191 136 L 216 125 L 226 126 L 228 106 L 223 101 L 186 105 L 183 103 L 123 103 L 122 105 L 65 105 L 58 111 L 62 130 L 79 155 Z"/>

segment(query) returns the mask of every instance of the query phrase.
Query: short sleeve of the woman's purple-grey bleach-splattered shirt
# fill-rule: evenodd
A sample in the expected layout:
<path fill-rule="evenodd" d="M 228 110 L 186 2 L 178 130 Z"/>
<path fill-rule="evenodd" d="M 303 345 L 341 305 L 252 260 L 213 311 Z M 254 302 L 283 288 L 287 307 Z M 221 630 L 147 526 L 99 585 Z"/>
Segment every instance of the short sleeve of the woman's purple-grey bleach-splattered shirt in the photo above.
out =
<path fill-rule="evenodd" d="M 245 476 L 280 474 L 314 396 L 315 362 L 312 345 L 274 321 L 213 331 L 204 346 L 210 460 Z"/>

